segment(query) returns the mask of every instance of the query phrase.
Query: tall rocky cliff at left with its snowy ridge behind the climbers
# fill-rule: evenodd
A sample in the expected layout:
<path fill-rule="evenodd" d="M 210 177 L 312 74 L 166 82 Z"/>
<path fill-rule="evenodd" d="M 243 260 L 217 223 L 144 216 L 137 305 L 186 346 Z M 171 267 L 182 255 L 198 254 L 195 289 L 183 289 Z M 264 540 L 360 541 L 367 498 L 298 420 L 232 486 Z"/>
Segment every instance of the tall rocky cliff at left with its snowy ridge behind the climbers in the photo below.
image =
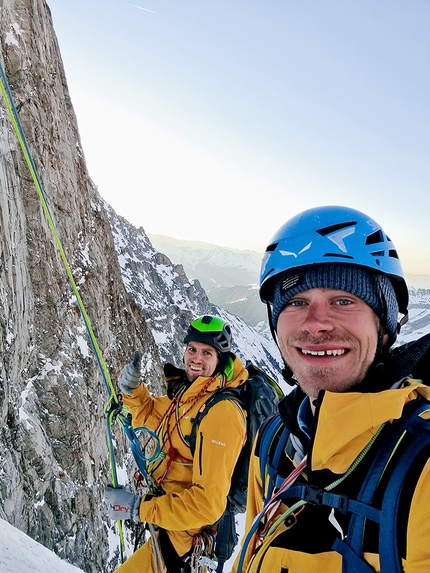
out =
<path fill-rule="evenodd" d="M 49 210 L 112 380 L 134 349 L 154 393 L 190 319 L 219 312 L 261 367 L 276 349 L 213 307 L 198 281 L 101 200 L 81 148 L 44 0 L 0 0 L 0 58 Z M 88 573 L 118 565 L 106 516 L 108 393 L 0 98 L 0 518 Z M 115 434 L 122 483 L 132 470 Z M 112 545 L 109 539 L 113 537 Z M 126 532 L 128 539 L 129 535 Z"/>

